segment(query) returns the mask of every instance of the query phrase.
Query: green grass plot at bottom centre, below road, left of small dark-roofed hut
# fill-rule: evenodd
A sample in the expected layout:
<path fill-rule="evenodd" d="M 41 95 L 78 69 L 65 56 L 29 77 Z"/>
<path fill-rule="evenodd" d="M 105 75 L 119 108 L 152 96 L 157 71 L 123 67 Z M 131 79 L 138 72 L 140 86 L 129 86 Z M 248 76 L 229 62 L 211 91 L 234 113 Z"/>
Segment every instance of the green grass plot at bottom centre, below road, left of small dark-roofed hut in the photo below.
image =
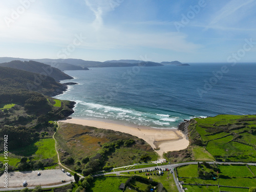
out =
<path fill-rule="evenodd" d="M 120 192 L 119 186 L 125 183 L 128 178 L 126 177 L 98 177 L 94 179 L 93 186 L 90 190 L 93 192 Z"/>

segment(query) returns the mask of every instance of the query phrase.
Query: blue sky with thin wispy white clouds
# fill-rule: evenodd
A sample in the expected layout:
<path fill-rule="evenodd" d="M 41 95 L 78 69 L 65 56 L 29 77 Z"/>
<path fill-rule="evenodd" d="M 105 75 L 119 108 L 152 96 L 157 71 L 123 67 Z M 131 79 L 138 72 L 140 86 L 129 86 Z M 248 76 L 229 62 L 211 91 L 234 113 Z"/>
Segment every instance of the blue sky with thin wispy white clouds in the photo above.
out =
<path fill-rule="evenodd" d="M 255 10 L 256 0 L 1 1 L 0 56 L 255 62 Z"/>

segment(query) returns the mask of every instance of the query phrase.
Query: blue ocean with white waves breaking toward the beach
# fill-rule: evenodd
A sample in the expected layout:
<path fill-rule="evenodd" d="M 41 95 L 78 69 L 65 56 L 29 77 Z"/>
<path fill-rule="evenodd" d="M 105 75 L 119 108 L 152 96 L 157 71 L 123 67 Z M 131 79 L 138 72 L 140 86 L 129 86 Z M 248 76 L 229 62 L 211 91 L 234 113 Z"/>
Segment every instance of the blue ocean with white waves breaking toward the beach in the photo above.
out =
<path fill-rule="evenodd" d="M 76 82 L 55 98 L 76 102 L 74 118 L 177 127 L 184 119 L 256 114 L 256 65 L 91 68 L 65 71 Z"/>

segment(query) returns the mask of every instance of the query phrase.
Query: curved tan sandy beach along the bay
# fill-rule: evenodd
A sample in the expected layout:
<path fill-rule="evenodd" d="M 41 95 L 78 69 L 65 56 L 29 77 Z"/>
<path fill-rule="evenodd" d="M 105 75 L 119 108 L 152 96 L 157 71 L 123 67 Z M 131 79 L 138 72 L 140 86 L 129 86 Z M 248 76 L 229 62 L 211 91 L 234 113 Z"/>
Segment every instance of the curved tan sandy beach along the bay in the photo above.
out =
<path fill-rule="evenodd" d="M 116 123 L 77 118 L 62 120 L 60 122 L 93 126 L 137 136 L 150 144 L 152 148 L 159 147 L 160 150 L 157 150 L 156 152 L 160 157 L 162 157 L 164 152 L 183 150 L 189 144 L 189 141 L 185 138 L 183 133 L 176 129 L 154 129 L 151 127 L 136 128 Z"/>

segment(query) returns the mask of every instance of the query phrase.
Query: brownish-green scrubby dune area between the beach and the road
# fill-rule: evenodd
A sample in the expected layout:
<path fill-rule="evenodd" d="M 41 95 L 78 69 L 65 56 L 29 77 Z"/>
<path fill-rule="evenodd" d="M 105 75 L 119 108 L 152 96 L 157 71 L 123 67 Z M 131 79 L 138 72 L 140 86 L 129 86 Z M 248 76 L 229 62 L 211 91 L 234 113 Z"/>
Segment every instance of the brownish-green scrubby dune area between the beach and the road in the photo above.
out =
<path fill-rule="evenodd" d="M 157 160 L 156 153 L 144 140 L 112 130 L 60 123 L 55 138 L 61 161 L 84 175 Z"/>

